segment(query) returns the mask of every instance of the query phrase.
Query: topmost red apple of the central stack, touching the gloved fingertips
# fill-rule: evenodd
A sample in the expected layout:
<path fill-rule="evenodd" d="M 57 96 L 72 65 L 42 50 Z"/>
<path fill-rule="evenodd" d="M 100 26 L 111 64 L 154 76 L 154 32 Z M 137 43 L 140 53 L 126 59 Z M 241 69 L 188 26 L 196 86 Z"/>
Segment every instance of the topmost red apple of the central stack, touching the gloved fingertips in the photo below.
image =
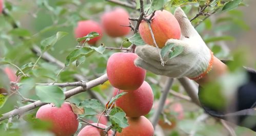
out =
<path fill-rule="evenodd" d="M 115 88 L 135 90 L 139 88 L 146 76 L 146 70 L 137 67 L 135 53 L 114 53 L 107 62 L 108 80 Z"/>

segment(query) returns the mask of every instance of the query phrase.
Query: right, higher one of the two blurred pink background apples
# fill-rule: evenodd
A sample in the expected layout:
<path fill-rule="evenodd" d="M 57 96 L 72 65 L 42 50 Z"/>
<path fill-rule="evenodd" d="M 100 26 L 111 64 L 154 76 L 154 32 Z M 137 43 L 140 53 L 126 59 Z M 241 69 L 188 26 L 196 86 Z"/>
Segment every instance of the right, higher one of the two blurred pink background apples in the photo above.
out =
<path fill-rule="evenodd" d="M 131 29 L 121 25 L 129 25 L 129 13 L 122 8 L 116 8 L 113 11 L 102 15 L 102 26 L 110 37 L 121 37 L 127 35 Z"/>

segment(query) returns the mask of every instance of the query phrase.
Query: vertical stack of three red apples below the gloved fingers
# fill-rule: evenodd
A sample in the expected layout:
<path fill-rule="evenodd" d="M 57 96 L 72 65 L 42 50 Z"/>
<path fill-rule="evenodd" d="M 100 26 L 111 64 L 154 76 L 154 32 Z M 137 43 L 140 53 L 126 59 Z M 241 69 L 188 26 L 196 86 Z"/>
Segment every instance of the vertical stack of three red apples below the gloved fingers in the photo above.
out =
<path fill-rule="evenodd" d="M 134 64 L 137 57 L 134 53 L 114 53 L 107 62 L 107 76 L 115 87 L 114 96 L 126 92 L 115 101 L 115 106 L 124 110 L 129 126 L 117 132 L 117 136 L 154 134 L 151 122 L 144 117 L 152 108 L 154 96 L 152 88 L 144 81 L 146 71 Z"/>

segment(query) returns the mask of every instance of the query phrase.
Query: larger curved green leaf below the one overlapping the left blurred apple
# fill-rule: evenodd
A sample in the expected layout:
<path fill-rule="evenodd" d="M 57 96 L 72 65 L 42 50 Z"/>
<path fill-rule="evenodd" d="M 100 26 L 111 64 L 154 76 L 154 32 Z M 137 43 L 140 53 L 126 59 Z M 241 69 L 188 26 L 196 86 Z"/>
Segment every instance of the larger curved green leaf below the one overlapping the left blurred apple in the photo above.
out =
<path fill-rule="evenodd" d="M 74 49 L 66 58 L 65 66 L 68 66 L 70 63 L 74 62 L 75 60 L 85 56 L 88 57 L 94 52 L 94 50 L 91 50 L 90 48 L 80 48 L 80 49 Z"/>

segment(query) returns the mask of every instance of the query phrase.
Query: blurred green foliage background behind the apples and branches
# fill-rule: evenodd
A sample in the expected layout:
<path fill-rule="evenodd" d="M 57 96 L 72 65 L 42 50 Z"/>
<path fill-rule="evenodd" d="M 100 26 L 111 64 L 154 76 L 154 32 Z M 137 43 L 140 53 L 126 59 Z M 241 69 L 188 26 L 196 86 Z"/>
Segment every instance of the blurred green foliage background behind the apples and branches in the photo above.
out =
<path fill-rule="evenodd" d="M 166 1 L 170 4 L 170 1 Z M 189 18 L 192 18 L 198 13 L 198 3 L 182 5 L 184 11 L 187 13 Z M 201 1 L 205 3 L 206 1 Z M 227 1 L 223 1 L 227 2 Z M 57 41 L 54 47 L 48 52 L 57 58 L 58 60 L 65 62 L 68 54 L 75 49 L 77 41 L 74 38 L 73 29 L 77 25 L 78 20 L 93 19 L 100 23 L 100 17 L 105 11 L 109 11 L 116 7 L 116 4 L 112 4 L 103 0 L 9 0 L 5 1 L 5 9 L 9 16 L 0 15 L 0 57 L 6 58 L 9 62 L 22 67 L 25 64 L 30 64 L 37 60 L 37 56 L 31 52 L 32 46 L 41 45 L 41 41 L 47 37 L 50 37 L 58 31 L 67 32 L 68 35 Z M 243 65 L 256 67 L 255 57 L 256 51 L 255 35 L 256 35 L 256 1 L 248 0 L 240 5 L 239 8 L 222 12 L 215 13 L 209 18 L 202 19 L 204 16 L 200 16 L 192 21 L 192 24 L 196 27 L 196 30 L 206 41 L 209 48 L 212 49 L 214 55 L 221 59 L 232 59 L 233 53 L 239 52 L 242 54 Z M 139 16 L 139 12 L 135 12 L 132 9 L 125 8 L 132 17 Z M 167 5 L 165 9 L 173 13 L 175 7 Z M 198 25 L 198 23 L 200 25 Z M 18 29 L 13 29 L 13 25 L 17 25 Z M 103 38 L 100 42 L 97 42 L 96 46 L 100 46 L 100 43 L 104 43 L 107 47 L 120 47 L 121 43 L 125 38 L 131 37 L 132 32 L 126 37 L 110 38 L 106 34 L 103 34 Z M 25 37 L 23 39 L 20 36 Z M 129 47 L 130 43 L 125 42 L 124 47 Z M 67 66 L 64 71 L 57 76 L 60 72 L 60 68 L 55 64 L 48 63 L 43 59 L 38 61 L 38 67 L 35 70 L 28 70 L 26 74 L 30 75 L 28 78 L 23 78 L 21 82 L 23 87 L 19 90 L 21 94 L 30 99 L 38 99 L 34 92 L 34 83 L 44 82 L 72 82 L 75 81 L 73 78 L 74 74 L 80 74 L 86 77 L 88 80 L 94 79 L 101 76 L 106 72 L 106 63 L 108 57 L 117 51 L 105 51 L 103 55 L 99 53 L 93 53 L 89 57 L 85 58 L 85 61 L 75 66 L 74 63 Z M 5 67 L 6 65 L 2 66 Z M 15 67 L 11 66 L 15 71 Z M 31 66 L 30 66 L 31 68 Z M 1 75 L 2 78 L 3 74 Z M 4 78 L 4 76 L 3 76 Z M 6 80 L 7 77 L 5 77 Z M 150 82 L 153 88 L 154 100 L 157 101 L 160 98 L 162 87 L 160 81 L 165 81 L 165 78 L 156 76 L 151 73 L 147 73 L 146 81 Z M 67 87 L 65 89 L 69 89 Z M 101 95 L 105 101 L 112 97 L 113 88 L 106 82 L 103 85 L 99 85 L 92 89 Z M 172 86 L 174 92 L 186 95 L 184 88 L 179 82 L 174 82 Z M 73 103 L 79 103 L 80 101 L 90 98 L 90 95 L 85 92 L 80 95 L 76 95 L 69 99 Z M 188 135 L 191 131 L 193 135 L 228 135 L 226 129 L 221 125 L 220 122 L 213 118 L 204 119 L 200 121 L 199 117 L 204 117 L 204 111 L 202 108 L 195 104 L 177 98 L 173 95 L 168 96 L 169 101 L 172 103 L 181 103 L 184 109 L 184 119 L 178 120 L 174 118 L 176 126 L 171 129 L 164 129 L 166 135 Z M 218 98 L 216 98 L 218 99 Z M 26 105 L 22 103 L 21 98 L 18 96 L 12 96 L 7 100 L 5 105 L 1 107 L 0 114 L 13 109 L 15 106 Z M 166 107 L 166 109 L 168 106 Z M 28 114 L 34 115 L 36 110 L 29 111 Z M 150 112 L 147 117 L 151 117 L 154 109 Z M 165 113 L 168 117 L 176 117 L 177 114 L 174 109 L 167 110 Z M 162 118 L 165 117 L 165 114 Z M 171 114 L 171 115 L 169 115 Z M 22 117 L 27 117 L 23 115 Z M 29 119 L 33 116 L 29 116 Z M 94 117 L 92 120 L 95 120 Z M 167 119 L 173 120 L 173 119 Z M 29 123 L 26 123 L 29 122 Z M 25 124 L 25 125 L 24 125 Z M 26 118 L 15 119 L 12 124 L 8 125 L 8 122 L 0 123 L 1 135 L 10 134 L 7 133 L 9 130 L 14 130 L 12 135 L 47 135 L 42 132 L 45 130 L 47 125 Z M 5 131 L 7 130 L 7 132 Z M 255 135 L 249 129 L 242 127 L 235 127 L 237 135 Z M 2 134 L 3 133 L 3 134 Z M 49 133 L 51 135 L 51 133 Z M 156 134 L 157 135 L 157 134 Z"/>

